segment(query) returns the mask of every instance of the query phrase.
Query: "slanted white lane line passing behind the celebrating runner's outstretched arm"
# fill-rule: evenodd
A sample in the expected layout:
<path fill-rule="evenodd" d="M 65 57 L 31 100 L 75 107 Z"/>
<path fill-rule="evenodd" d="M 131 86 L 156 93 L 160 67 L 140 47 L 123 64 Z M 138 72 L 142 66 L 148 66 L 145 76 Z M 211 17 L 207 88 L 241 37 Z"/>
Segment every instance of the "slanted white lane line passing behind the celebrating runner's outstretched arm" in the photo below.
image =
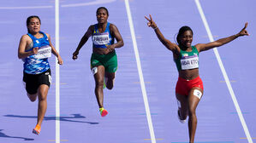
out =
<path fill-rule="evenodd" d="M 212 37 L 212 34 L 211 34 L 211 30 L 210 30 L 210 28 L 208 26 L 207 20 L 205 19 L 205 14 L 204 14 L 204 11 L 203 11 L 203 9 L 201 7 L 201 4 L 199 3 L 199 0 L 195 0 L 195 3 L 197 5 L 197 8 L 199 9 L 199 14 L 201 16 L 201 19 L 203 20 L 204 25 L 205 25 L 205 29 L 207 31 L 208 37 L 209 37 L 210 41 L 213 42 L 214 40 L 213 40 L 213 37 Z M 227 72 L 226 72 L 226 70 L 225 70 L 225 68 L 223 66 L 223 62 L 222 62 L 222 60 L 220 58 L 220 55 L 218 54 L 217 48 L 214 48 L 213 51 L 214 51 L 214 54 L 215 54 L 215 56 L 217 58 L 218 65 L 220 66 L 220 69 L 223 72 L 223 77 L 224 77 L 224 79 L 226 81 L 226 84 L 228 86 L 229 94 L 231 95 L 231 98 L 232 98 L 232 100 L 234 102 L 235 109 L 236 109 L 236 112 L 238 113 L 238 117 L 240 118 L 241 125 L 242 125 L 242 127 L 244 129 L 244 132 L 247 135 L 247 140 L 248 140 L 249 143 L 253 143 L 252 137 L 251 137 L 251 135 L 249 133 L 249 130 L 247 129 L 247 123 L 245 122 L 245 119 L 242 116 L 240 106 L 238 105 L 238 102 L 237 102 L 237 100 L 235 98 L 235 93 L 234 93 L 234 91 L 232 89 L 232 86 L 231 86 L 231 84 L 229 82 L 229 77 L 228 77 Z"/>

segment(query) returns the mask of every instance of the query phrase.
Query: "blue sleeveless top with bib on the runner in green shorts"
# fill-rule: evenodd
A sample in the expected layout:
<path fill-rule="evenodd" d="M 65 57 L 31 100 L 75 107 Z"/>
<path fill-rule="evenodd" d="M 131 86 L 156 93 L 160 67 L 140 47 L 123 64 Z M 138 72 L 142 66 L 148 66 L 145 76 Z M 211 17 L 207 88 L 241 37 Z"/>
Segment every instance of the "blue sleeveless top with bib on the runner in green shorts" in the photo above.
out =
<path fill-rule="evenodd" d="M 114 39 L 110 34 L 110 23 L 107 23 L 104 32 L 98 32 L 98 24 L 94 25 L 94 31 L 92 34 L 92 48 L 107 48 L 108 45 L 114 44 Z"/>

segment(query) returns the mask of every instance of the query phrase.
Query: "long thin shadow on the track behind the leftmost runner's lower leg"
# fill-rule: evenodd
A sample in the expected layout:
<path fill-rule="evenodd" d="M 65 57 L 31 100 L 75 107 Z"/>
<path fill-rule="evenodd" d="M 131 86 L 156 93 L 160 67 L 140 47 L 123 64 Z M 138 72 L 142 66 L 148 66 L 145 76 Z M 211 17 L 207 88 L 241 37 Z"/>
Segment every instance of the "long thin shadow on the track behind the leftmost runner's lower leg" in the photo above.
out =
<path fill-rule="evenodd" d="M 86 122 L 86 121 L 75 121 L 72 119 L 78 119 L 78 118 L 86 118 L 84 116 L 81 116 L 80 114 L 71 114 L 73 116 L 61 116 L 59 118 L 57 117 L 45 117 L 44 120 L 60 120 L 60 121 L 65 121 L 65 122 L 74 122 L 74 123 L 89 123 L 89 124 L 98 124 L 95 122 Z M 3 117 L 18 117 L 18 118 L 37 118 L 36 116 L 21 116 L 21 115 L 4 115 Z"/>

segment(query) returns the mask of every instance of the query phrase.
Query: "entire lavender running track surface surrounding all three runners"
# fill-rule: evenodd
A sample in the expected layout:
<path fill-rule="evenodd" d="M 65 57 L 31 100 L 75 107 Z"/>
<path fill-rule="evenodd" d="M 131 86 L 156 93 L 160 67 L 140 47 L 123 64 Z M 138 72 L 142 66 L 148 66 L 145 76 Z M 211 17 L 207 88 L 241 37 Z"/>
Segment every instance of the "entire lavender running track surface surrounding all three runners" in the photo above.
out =
<path fill-rule="evenodd" d="M 71 5 L 76 3 L 80 4 Z M 144 16 L 152 14 L 164 36 L 171 41 L 174 41 L 181 26 L 188 25 L 194 32 L 193 43 L 207 43 L 209 38 L 198 9 L 193 0 L 140 0 L 129 3 L 157 142 L 188 141 L 187 123 L 179 123 L 176 117 L 177 72 L 172 53 L 164 48 L 152 29 L 146 26 Z M 256 99 L 253 88 L 256 83 L 252 78 L 256 64 L 251 50 L 256 46 L 253 40 L 256 3 L 252 0 L 201 0 L 200 3 L 214 39 L 235 34 L 246 21 L 249 23 L 247 30 L 250 37 L 240 37 L 218 51 L 255 141 L 256 113 L 253 101 Z M 33 9 L 36 6 L 39 8 Z M 110 112 L 104 118 L 98 113 L 94 81 L 89 70 L 91 40 L 80 50 L 78 60 L 71 59 L 87 27 L 97 23 L 95 13 L 99 6 L 109 9 L 109 21 L 119 28 L 125 43 L 122 49 L 116 49 L 116 85 L 111 91 L 104 90 L 104 106 Z M 25 140 L 55 142 L 55 58 L 50 60 L 54 83 L 48 94 L 48 109 L 39 136 L 31 134 L 36 123 L 37 102 L 31 103 L 27 99 L 21 82 L 22 62 L 17 59 L 18 43 L 21 35 L 27 33 L 26 19 L 29 15 L 39 15 L 42 20 L 41 30 L 51 35 L 55 45 L 54 10 L 52 0 L 39 0 L 36 3 L 15 0 L 0 2 L 0 45 L 3 51 L 0 54 L 3 57 L 0 61 L 0 143 L 24 143 Z M 151 142 L 148 140 L 150 134 L 124 1 L 61 0 L 60 54 L 64 60 L 64 65 L 60 67 L 62 142 Z M 195 139 L 207 143 L 247 142 L 213 50 L 200 54 L 199 68 L 205 94 L 197 109 L 198 129 Z"/>

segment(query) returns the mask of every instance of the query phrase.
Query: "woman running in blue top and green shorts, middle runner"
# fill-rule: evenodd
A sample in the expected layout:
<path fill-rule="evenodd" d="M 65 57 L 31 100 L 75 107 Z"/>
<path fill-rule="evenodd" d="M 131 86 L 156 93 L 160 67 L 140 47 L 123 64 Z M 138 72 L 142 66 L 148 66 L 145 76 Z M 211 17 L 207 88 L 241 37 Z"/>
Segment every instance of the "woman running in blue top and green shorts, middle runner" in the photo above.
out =
<path fill-rule="evenodd" d="M 102 117 L 108 112 L 104 109 L 104 84 L 107 89 L 112 89 L 117 69 L 116 48 L 123 46 L 122 36 L 117 27 L 108 22 L 108 9 L 100 7 L 96 11 L 98 23 L 88 27 L 85 35 L 80 39 L 80 43 L 73 54 L 73 60 L 77 59 L 82 46 L 92 36 L 92 57 L 91 70 L 95 80 L 95 95 L 98 101 L 99 112 Z M 117 43 L 114 43 L 116 38 Z"/>

